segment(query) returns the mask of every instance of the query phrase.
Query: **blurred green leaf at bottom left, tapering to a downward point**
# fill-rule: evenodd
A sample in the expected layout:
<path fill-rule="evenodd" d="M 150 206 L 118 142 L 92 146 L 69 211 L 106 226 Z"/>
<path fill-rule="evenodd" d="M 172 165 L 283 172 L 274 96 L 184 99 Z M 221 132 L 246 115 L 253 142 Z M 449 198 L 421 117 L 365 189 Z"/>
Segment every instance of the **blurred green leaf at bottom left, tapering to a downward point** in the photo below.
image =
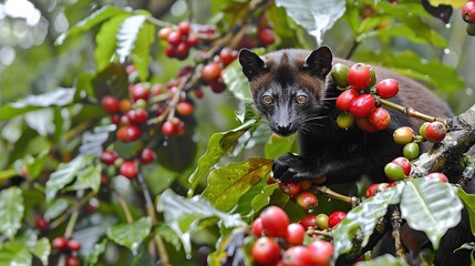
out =
<path fill-rule="evenodd" d="M 118 224 L 110 227 L 107 237 L 118 245 L 127 247 L 136 256 L 140 245 L 148 236 L 151 229 L 151 218 L 142 217 L 132 224 Z"/>

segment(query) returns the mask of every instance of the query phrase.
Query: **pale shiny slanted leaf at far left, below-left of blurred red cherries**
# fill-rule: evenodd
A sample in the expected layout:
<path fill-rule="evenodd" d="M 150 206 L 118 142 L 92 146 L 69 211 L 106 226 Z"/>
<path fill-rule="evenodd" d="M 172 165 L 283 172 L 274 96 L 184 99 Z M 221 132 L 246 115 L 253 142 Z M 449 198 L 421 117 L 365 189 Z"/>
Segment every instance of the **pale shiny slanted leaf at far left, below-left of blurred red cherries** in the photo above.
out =
<path fill-rule="evenodd" d="M 58 192 L 69 185 L 82 171 L 92 164 L 94 156 L 80 155 L 69 163 L 62 163 L 47 182 L 47 202 L 51 204 Z"/>

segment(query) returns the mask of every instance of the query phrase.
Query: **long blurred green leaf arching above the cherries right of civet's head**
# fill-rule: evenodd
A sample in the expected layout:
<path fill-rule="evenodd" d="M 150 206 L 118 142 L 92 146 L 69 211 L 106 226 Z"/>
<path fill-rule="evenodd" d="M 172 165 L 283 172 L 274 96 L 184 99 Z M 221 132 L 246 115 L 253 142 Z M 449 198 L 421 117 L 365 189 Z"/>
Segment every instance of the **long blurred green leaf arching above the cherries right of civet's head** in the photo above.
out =
<path fill-rule="evenodd" d="M 438 60 L 422 59 L 412 51 L 399 53 L 388 50 L 358 52 L 354 60 L 359 62 L 376 62 L 401 74 L 428 82 L 441 91 L 454 92 L 465 88 L 465 82 L 454 68 L 443 64 Z"/>

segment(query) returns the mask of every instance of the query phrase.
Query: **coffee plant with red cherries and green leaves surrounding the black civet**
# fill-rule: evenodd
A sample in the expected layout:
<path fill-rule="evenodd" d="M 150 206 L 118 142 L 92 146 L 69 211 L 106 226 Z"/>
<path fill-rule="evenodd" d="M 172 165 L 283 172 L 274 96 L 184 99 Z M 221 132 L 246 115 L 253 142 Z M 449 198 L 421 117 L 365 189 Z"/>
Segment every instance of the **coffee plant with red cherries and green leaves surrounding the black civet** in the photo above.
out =
<path fill-rule="evenodd" d="M 473 68 L 473 54 L 450 57 L 458 39 L 473 42 L 474 0 L 21 3 L 48 25 L 31 41 L 33 17 L 12 12 L 13 0 L 0 6 L 1 265 L 406 265 L 402 223 L 437 248 L 465 207 L 466 234 L 475 232 L 464 191 L 475 110 L 463 90 L 474 81 L 453 66 Z M 394 131 L 402 156 L 384 167 L 386 183 L 272 178 L 273 158 L 298 152 L 296 137 L 271 134 L 257 116 L 239 50 L 322 43 L 358 62 L 331 70 L 340 127 L 385 130 L 389 109 L 426 121 Z M 401 106 L 392 98 L 403 88 L 376 80 L 372 64 L 467 111 L 435 117 Z M 463 178 L 452 184 L 443 172 L 458 163 Z M 384 226 L 396 252 L 372 257 Z M 432 264 L 433 254 L 415 254 Z"/>

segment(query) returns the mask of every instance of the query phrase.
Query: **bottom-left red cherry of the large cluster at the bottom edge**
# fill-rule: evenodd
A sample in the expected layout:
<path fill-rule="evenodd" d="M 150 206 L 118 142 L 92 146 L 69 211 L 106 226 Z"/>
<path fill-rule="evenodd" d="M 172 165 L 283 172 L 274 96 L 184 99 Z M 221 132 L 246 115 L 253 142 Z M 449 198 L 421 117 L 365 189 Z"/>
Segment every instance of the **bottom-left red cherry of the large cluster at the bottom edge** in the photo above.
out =
<path fill-rule="evenodd" d="M 252 245 L 254 262 L 259 265 L 273 265 L 280 259 L 280 246 L 270 237 L 260 237 Z"/>

